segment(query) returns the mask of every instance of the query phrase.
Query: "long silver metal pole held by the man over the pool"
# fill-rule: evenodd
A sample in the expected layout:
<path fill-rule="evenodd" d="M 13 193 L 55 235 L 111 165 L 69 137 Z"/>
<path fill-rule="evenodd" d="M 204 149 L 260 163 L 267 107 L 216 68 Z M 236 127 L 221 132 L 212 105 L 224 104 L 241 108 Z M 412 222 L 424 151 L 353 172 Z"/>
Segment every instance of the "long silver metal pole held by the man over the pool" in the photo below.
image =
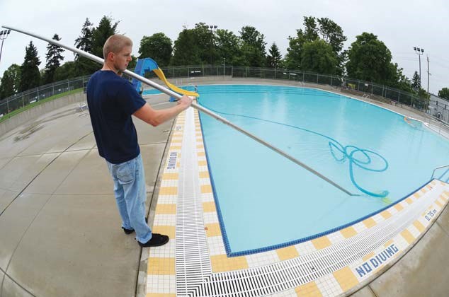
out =
<path fill-rule="evenodd" d="M 28 31 L 22 30 L 22 29 L 18 29 L 18 28 L 13 28 L 11 26 L 8 25 L 3 25 L 3 28 L 6 29 L 11 29 L 13 31 L 19 32 L 19 33 L 23 33 L 25 35 L 30 35 L 33 37 L 36 37 L 40 40 L 44 40 L 46 42 L 50 42 L 53 45 L 57 45 L 58 47 L 62 47 L 66 50 L 72 51 L 72 52 L 76 52 L 76 54 L 79 54 L 83 57 L 86 57 L 88 59 L 91 59 L 95 62 L 98 62 L 100 64 L 104 64 L 104 60 L 101 59 L 100 57 L 96 57 L 93 54 L 89 54 L 89 52 L 84 52 L 82 50 L 79 50 L 75 47 L 69 47 L 67 45 L 63 45 L 61 42 L 57 41 L 57 40 L 53 40 L 47 37 L 42 37 L 40 35 L 37 35 L 35 33 L 30 33 Z M 157 90 L 166 93 L 167 95 L 170 95 L 171 97 L 180 99 L 182 96 L 179 95 L 178 93 L 171 91 L 169 88 L 165 88 L 164 86 L 159 85 L 158 83 L 155 83 L 154 81 L 150 81 L 147 78 L 144 78 L 138 74 L 135 74 L 132 71 L 129 70 L 125 70 L 123 71 L 124 74 L 126 74 L 127 76 L 131 76 L 132 78 L 136 78 L 138 81 L 141 81 L 142 83 L 146 83 L 149 86 L 152 86 L 153 88 L 156 88 Z M 271 148 L 273 151 L 275 151 L 276 153 L 279 153 L 281 156 L 284 156 L 285 158 L 288 158 L 288 160 L 292 161 L 293 163 L 300 165 L 302 168 L 305 168 L 306 170 L 308 170 L 309 172 L 313 173 L 314 175 L 317 175 L 317 177 L 320 177 L 322 180 L 325 180 L 326 182 L 329 182 L 329 184 L 333 185 L 334 187 L 336 187 L 337 189 L 345 192 L 348 195 L 351 196 L 356 196 L 356 194 L 353 194 L 351 192 L 349 192 L 348 190 L 346 190 L 345 188 L 341 187 L 340 185 L 338 185 L 336 182 L 334 182 L 333 180 L 330 180 L 329 178 L 325 177 L 324 175 L 322 175 L 321 173 L 317 172 L 316 170 L 310 168 L 309 166 L 305 165 L 305 163 L 302 163 L 301 161 L 297 160 L 297 158 L 294 158 L 292 156 L 290 156 L 288 153 L 285 153 L 285 151 L 280 150 L 279 148 L 276 148 L 275 146 L 268 144 L 268 142 L 264 141 L 263 139 L 259 138 L 258 136 L 251 134 L 250 132 L 247 132 L 246 130 L 242 129 L 241 127 L 232 124 L 232 122 L 229 122 L 228 120 L 226 120 L 224 117 L 220 117 L 220 115 L 217 115 L 215 112 L 212 112 L 210 110 L 208 110 L 207 108 L 198 105 L 196 103 L 192 103 L 191 105 L 192 107 L 196 108 L 197 110 L 200 110 L 201 112 L 204 112 L 206 115 L 210 115 L 211 117 L 213 117 L 215 120 L 219 120 L 220 122 L 222 122 L 223 124 L 227 124 L 229 127 L 232 127 L 234 129 L 236 129 L 237 131 L 245 134 L 246 136 L 249 136 L 251 139 L 254 139 L 255 141 L 257 141 L 259 144 L 263 144 L 264 146 Z"/>

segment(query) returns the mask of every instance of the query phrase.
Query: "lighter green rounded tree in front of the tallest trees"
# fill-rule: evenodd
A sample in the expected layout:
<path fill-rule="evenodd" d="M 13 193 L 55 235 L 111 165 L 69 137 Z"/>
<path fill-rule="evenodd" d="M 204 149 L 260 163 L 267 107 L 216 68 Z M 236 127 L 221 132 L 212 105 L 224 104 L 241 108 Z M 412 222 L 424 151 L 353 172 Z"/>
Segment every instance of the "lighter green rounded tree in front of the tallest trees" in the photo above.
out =
<path fill-rule="evenodd" d="M 319 74 L 335 74 L 338 59 L 331 45 L 317 39 L 306 42 L 302 47 L 301 68 Z"/>

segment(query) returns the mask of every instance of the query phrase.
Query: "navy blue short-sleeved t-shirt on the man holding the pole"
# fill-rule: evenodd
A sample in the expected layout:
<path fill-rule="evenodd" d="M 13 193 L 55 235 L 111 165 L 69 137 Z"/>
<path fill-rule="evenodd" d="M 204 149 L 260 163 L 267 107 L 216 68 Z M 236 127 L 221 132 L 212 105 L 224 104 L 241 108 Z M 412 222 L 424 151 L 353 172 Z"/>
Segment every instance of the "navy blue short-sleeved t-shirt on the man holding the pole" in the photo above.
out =
<path fill-rule="evenodd" d="M 139 156 L 131 115 L 146 102 L 132 84 L 114 71 L 96 71 L 87 83 L 87 104 L 98 153 L 118 164 Z"/>

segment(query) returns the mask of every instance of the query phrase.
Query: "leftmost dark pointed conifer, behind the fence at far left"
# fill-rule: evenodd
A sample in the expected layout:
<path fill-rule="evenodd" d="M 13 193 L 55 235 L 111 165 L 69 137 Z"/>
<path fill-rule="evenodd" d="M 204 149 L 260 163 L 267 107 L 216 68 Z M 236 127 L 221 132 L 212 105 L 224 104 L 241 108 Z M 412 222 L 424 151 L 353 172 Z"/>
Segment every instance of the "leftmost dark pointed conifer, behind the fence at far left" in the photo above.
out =
<path fill-rule="evenodd" d="M 25 59 L 21 65 L 21 86 L 20 91 L 27 91 L 30 88 L 35 88 L 40 84 L 40 61 L 38 57 L 38 50 L 30 41 L 28 47 L 25 47 Z"/>

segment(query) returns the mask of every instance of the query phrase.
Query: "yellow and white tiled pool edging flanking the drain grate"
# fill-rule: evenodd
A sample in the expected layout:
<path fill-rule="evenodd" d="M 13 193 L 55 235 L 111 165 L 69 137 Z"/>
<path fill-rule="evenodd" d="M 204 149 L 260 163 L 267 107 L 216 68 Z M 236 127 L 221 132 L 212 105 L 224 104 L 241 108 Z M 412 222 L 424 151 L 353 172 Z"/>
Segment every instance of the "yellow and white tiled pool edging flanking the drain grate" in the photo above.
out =
<path fill-rule="evenodd" d="M 194 113 L 194 115 L 188 115 L 189 112 Z M 189 121 L 195 122 L 195 131 L 188 132 L 184 130 L 186 118 Z M 320 250 L 331 247 L 329 243 L 335 245 L 340 243 L 342 240 L 347 240 L 348 238 L 351 239 L 351 237 L 358 234 L 354 233 L 354 230 L 363 231 L 360 230 L 363 229 L 363 226 L 349 226 L 348 228 L 346 228 L 348 230 L 336 231 L 335 234 L 333 233 L 321 238 L 316 238 L 314 239 L 315 241 L 312 240 L 307 243 L 301 243 L 297 246 L 293 245 L 293 248 L 292 246 L 290 246 L 280 249 L 279 251 L 276 250 L 275 252 L 269 251 L 268 253 L 261 253 L 264 254 L 261 256 L 263 260 L 256 259 L 254 255 L 244 256 L 249 257 L 247 259 L 245 258 L 245 260 L 242 258 L 243 256 L 233 258 L 226 257 L 225 252 L 222 252 L 224 250 L 224 245 L 220 245 L 220 238 L 222 238 L 222 236 L 219 232 L 221 232 L 221 229 L 220 224 L 217 222 L 216 206 L 213 199 L 212 186 L 210 184 L 210 179 L 208 178 L 207 160 L 205 158 L 204 144 L 202 144 L 203 137 L 199 126 L 198 111 L 193 112 L 193 110 L 191 110 L 185 112 L 183 115 L 180 115 L 176 120 L 174 130 L 175 131 L 171 139 L 169 153 L 166 160 L 167 166 L 165 167 L 164 165 L 164 175 L 161 181 L 161 190 L 159 192 L 159 200 L 157 204 L 153 228 L 154 232 L 169 233 L 169 235 L 171 235 L 171 238 L 174 238 L 174 240 L 171 240 L 171 243 L 169 243 L 166 248 L 161 247 L 149 250 L 147 269 L 147 296 L 176 296 L 176 289 L 180 289 L 180 284 L 176 278 L 178 278 L 178 274 L 182 273 L 178 271 L 178 264 L 175 257 L 175 255 L 177 256 L 178 252 L 180 252 L 179 249 L 176 250 L 176 245 L 178 245 L 179 239 L 177 230 L 178 226 L 176 225 L 176 216 L 178 216 L 178 204 L 173 202 L 178 202 L 178 199 L 181 198 L 180 196 L 182 196 L 183 194 L 183 192 L 178 191 L 177 185 L 179 185 L 179 183 L 183 181 L 183 177 L 179 173 L 181 163 L 183 163 L 184 161 L 181 156 L 184 154 L 185 148 L 187 146 L 186 141 L 184 141 L 186 140 L 186 137 L 184 136 L 187 136 L 188 133 L 191 134 L 191 139 L 192 133 L 195 134 L 193 136 L 195 137 L 195 144 L 193 145 L 195 146 L 196 154 L 195 158 L 193 159 L 195 159 L 194 161 L 198 162 L 198 175 L 196 177 L 196 185 L 198 187 L 196 194 L 198 197 L 196 197 L 197 201 L 195 203 L 200 203 L 200 206 L 202 206 L 201 208 L 203 208 L 202 211 L 205 211 L 205 214 L 202 218 L 204 223 L 203 235 L 205 238 L 207 238 L 206 250 L 210 253 L 209 261 L 205 260 L 205 262 L 209 262 L 211 267 L 210 275 L 208 277 L 211 277 L 212 274 L 216 274 L 217 277 L 221 277 L 222 274 L 231 274 L 232 272 L 244 271 L 244 269 L 256 269 L 258 267 L 274 265 L 276 263 L 285 264 L 289 261 L 293 262 L 295 259 L 299 259 L 302 256 L 307 256 L 309 254 L 312 254 L 313 252 L 319 252 Z M 200 141 L 201 143 L 197 143 L 198 141 Z M 174 160 L 174 158 L 176 158 L 176 160 Z M 186 160 L 188 159 L 191 158 L 186 158 Z M 446 192 L 441 190 L 441 187 L 443 187 L 443 189 L 446 189 L 444 190 Z M 434 188 L 438 188 L 440 192 L 443 193 L 438 194 L 436 199 L 434 197 L 436 196 L 436 190 L 433 190 Z M 395 239 L 397 240 L 397 243 L 396 245 L 394 245 L 394 247 L 397 248 L 397 252 L 394 253 L 394 257 L 389 257 L 389 261 L 382 262 L 382 266 L 376 267 L 375 273 L 374 271 L 370 271 L 370 273 L 363 274 L 362 277 L 360 276 L 360 270 L 357 270 L 357 268 L 363 267 L 363 264 L 366 264 L 367 262 L 369 265 L 370 261 L 373 259 L 373 262 L 375 262 L 376 256 L 380 257 L 380 255 L 385 255 L 385 249 L 387 247 L 391 248 L 391 245 L 387 245 L 387 247 L 385 247 L 385 245 L 382 245 L 384 248 L 380 246 L 380 250 L 373 250 L 374 255 L 372 255 L 372 253 L 367 254 L 371 255 L 372 257 L 368 257 L 365 261 L 360 262 L 361 260 L 363 260 L 363 257 L 361 257 L 358 260 L 358 267 L 355 267 L 357 265 L 353 265 L 354 267 L 351 267 L 351 265 L 346 265 L 345 267 L 336 270 L 331 274 L 320 276 L 316 280 L 304 282 L 303 284 L 300 284 L 300 286 L 294 286 L 288 290 L 282 290 L 282 293 L 280 293 L 282 295 L 279 296 L 297 296 L 300 292 L 314 292 L 321 293 L 323 296 L 334 296 L 341 293 L 350 292 L 351 290 L 354 290 L 354 288 L 360 286 L 360 284 L 369 281 L 373 277 L 377 277 L 377 274 L 383 272 L 385 267 L 391 264 L 392 260 L 395 260 L 396 258 L 399 258 L 400 255 L 403 255 L 407 251 L 407 249 L 411 248 L 411 246 L 414 245 L 417 240 L 419 240 L 419 238 L 428 230 L 428 228 L 430 228 L 431 224 L 436 220 L 445 205 L 448 203 L 448 190 L 449 187 L 447 184 L 439 182 L 437 180 L 433 180 L 428 185 L 422 187 L 419 191 L 416 191 L 410 197 L 403 199 L 400 204 L 391 206 L 392 208 L 394 208 L 396 205 L 402 204 L 402 209 L 407 209 L 407 207 L 414 204 L 414 202 L 424 200 L 420 199 L 421 197 L 427 197 L 426 199 L 435 199 L 435 202 L 431 204 L 431 206 L 433 206 L 431 211 L 435 210 L 436 213 L 433 214 L 431 220 L 425 219 L 426 213 L 421 214 L 419 219 L 416 219 L 416 221 L 411 223 L 411 226 L 407 226 L 407 228 L 404 228 L 404 230 L 402 231 L 402 233 L 404 234 L 397 235 L 399 237 Z M 214 209 L 215 216 L 213 215 Z M 399 211 L 402 211 L 402 209 Z M 363 221 L 360 222 L 360 224 L 365 225 L 365 227 L 366 224 L 368 224 L 371 226 L 371 228 L 373 228 L 376 225 L 380 225 L 382 221 L 394 218 L 394 214 L 399 213 L 399 211 L 395 212 L 393 209 L 392 211 L 381 211 L 380 214 L 376 214 L 372 218 L 366 219 L 369 221 L 365 220 L 366 222 Z M 201 221 L 201 218 L 199 218 L 199 221 Z M 358 230 L 352 230 L 351 228 L 358 228 Z M 369 228 L 365 228 L 364 230 L 368 229 Z M 377 254 L 376 251 L 378 252 Z M 367 257 L 367 255 L 365 255 L 365 257 Z M 246 266 L 244 264 L 245 261 Z M 205 264 L 205 266 L 207 266 L 208 263 Z M 205 273 L 208 274 L 208 269 L 205 269 Z M 357 276 L 355 273 L 358 273 L 359 275 Z M 204 279 L 204 274 L 200 276 L 200 279 L 201 278 Z M 198 278 L 196 279 L 196 281 L 197 282 L 195 283 L 195 286 L 198 284 Z M 189 284 L 186 284 L 186 286 L 184 287 L 188 288 L 188 286 Z M 204 281 L 202 282 L 202 286 L 205 286 Z M 186 290 L 188 291 L 188 289 Z M 255 292 L 253 291 L 252 293 Z M 275 292 L 275 294 L 277 293 Z"/>

